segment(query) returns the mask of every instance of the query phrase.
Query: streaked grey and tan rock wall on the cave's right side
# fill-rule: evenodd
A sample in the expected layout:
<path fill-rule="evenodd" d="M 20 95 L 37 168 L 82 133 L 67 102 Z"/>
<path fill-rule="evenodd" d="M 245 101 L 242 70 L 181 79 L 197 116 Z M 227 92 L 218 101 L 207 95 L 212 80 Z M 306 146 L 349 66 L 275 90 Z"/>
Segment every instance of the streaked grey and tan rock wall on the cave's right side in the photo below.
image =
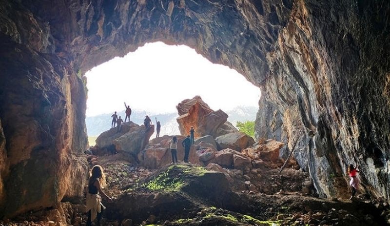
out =
<path fill-rule="evenodd" d="M 304 128 L 295 158 L 323 197 L 345 189 L 346 164 L 361 166 L 366 191 L 389 196 L 389 9 L 380 0 L 297 0 L 267 55 L 257 135 L 291 147 Z"/>

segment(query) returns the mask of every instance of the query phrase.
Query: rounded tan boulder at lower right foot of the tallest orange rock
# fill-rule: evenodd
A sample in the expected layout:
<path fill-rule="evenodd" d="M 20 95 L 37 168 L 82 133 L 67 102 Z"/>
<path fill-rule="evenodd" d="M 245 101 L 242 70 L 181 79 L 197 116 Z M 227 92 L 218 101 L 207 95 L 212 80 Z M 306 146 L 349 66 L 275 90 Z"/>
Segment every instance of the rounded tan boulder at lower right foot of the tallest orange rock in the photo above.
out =
<path fill-rule="evenodd" d="M 254 139 L 243 132 L 228 133 L 215 139 L 221 149 L 231 148 L 241 151 L 254 144 Z"/>

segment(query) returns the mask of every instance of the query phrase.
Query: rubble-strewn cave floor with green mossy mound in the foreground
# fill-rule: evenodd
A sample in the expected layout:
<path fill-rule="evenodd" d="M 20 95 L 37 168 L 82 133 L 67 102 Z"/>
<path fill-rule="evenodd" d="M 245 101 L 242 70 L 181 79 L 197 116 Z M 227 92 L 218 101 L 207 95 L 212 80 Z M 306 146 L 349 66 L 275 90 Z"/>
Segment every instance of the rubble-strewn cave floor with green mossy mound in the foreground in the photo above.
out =
<path fill-rule="evenodd" d="M 107 226 L 382 226 L 388 223 L 387 200 L 318 199 L 308 174 L 288 167 L 251 170 L 168 164 L 157 170 L 137 166 L 125 153 L 86 155 L 107 175 L 103 200 Z M 304 191 L 304 192 L 302 192 Z M 312 195 L 309 195 L 312 194 Z M 75 203 L 75 202 L 73 202 Z M 1 226 L 84 226 L 84 200 L 30 212 Z"/>

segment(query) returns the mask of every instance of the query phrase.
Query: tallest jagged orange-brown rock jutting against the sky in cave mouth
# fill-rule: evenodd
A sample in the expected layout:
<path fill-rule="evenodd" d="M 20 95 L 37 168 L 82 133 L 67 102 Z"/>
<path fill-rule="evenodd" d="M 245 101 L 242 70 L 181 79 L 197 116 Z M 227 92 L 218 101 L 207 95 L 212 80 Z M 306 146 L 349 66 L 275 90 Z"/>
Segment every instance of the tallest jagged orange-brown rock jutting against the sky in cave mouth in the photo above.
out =
<path fill-rule="evenodd" d="M 231 124 L 225 125 L 228 119 L 225 112 L 220 109 L 212 110 L 199 96 L 182 101 L 176 108 L 179 114 L 177 123 L 183 136 L 190 134 L 191 126 L 194 126 L 195 138 L 207 135 L 217 137 L 217 135 L 237 131 Z"/>

